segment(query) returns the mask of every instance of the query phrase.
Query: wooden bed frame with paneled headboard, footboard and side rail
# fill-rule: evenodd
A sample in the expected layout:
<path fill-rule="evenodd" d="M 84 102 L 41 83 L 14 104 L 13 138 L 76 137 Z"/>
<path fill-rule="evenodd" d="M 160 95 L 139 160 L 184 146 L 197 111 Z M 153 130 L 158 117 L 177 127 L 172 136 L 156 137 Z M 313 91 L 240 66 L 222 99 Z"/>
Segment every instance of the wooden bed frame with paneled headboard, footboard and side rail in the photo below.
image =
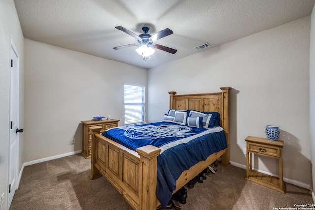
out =
<path fill-rule="evenodd" d="M 215 111 L 221 114 L 220 125 L 227 139 L 227 148 L 211 154 L 189 170 L 184 171 L 176 181 L 176 192 L 189 180 L 197 176 L 208 165 L 222 157 L 221 165 L 230 166 L 229 162 L 229 91 L 222 87 L 221 92 L 175 95 L 169 92 L 170 109 Z M 104 175 L 107 180 L 123 195 L 135 210 L 156 210 L 160 205 L 156 197 L 157 164 L 161 149 L 147 145 L 130 150 L 100 134 L 102 127 L 92 130 L 92 155 L 90 179 Z M 117 204 L 119 205 L 119 204 Z"/>

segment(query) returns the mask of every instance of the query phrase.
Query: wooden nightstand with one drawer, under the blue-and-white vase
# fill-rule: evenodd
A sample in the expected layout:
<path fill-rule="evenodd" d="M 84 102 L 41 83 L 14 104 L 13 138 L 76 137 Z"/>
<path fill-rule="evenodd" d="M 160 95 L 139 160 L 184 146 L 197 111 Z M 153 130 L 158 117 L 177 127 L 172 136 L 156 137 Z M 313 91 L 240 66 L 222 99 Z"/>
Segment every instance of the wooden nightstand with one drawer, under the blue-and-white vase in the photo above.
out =
<path fill-rule="evenodd" d="M 263 185 L 285 194 L 285 183 L 282 177 L 282 148 L 284 141 L 270 141 L 265 138 L 248 136 L 246 139 L 246 180 Z M 279 178 L 252 170 L 252 154 L 278 159 Z"/>

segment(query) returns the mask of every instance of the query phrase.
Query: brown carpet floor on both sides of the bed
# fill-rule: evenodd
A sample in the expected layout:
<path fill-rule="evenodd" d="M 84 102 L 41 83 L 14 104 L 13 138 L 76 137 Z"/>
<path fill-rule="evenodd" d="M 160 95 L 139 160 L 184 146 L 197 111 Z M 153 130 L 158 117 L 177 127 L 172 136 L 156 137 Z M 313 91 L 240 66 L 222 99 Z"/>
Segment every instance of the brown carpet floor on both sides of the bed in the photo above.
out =
<path fill-rule="evenodd" d="M 104 178 L 89 179 L 90 159 L 71 155 L 24 168 L 10 210 L 132 210 Z M 188 190 L 181 210 L 275 210 L 312 204 L 310 191 L 286 184 L 286 194 L 244 179 L 245 170 L 219 165 Z"/>

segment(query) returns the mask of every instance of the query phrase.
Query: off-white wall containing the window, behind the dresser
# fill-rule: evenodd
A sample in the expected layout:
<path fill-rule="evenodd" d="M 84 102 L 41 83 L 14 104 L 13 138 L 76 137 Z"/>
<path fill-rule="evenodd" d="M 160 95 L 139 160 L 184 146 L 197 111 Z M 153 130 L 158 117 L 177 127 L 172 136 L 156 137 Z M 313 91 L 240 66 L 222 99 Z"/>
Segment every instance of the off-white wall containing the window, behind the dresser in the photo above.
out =
<path fill-rule="evenodd" d="M 82 150 L 83 120 L 111 115 L 123 125 L 124 83 L 147 86 L 146 69 L 24 42 L 24 162 Z"/>

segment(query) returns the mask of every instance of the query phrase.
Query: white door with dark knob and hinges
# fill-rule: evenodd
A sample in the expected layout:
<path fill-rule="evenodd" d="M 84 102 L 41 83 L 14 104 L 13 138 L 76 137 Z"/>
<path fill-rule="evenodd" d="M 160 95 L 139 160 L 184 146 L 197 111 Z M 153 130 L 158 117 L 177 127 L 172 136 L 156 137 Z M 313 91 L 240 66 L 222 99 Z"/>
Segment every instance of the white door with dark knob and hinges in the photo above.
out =
<path fill-rule="evenodd" d="M 17 189 L 19 167 L 19 54 L 11 40 L 10 68 L 10 148 L 8 209 Z M 18 132 L 20 131 L 20 132 Z"/>

